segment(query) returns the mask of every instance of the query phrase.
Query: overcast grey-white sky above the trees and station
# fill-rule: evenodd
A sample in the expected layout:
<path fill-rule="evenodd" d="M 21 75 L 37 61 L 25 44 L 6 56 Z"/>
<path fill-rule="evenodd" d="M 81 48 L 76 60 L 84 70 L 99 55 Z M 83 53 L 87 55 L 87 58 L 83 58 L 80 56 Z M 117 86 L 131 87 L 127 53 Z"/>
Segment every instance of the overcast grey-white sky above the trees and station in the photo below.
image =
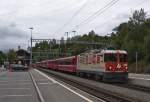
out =
<path fill-rule="evenodd" d="M 126 22 L 136 9 L 144 8 L 150 14 L 150 0 L 119 0 L 91 21 L 76 27 L 110 1 L 0 0 L 0 49 L 17 48 L 18 45 L 26 48 L 30 27 L 34 28 L 33 38 L 60 39 L 72 30 L 77 34 L 94 30 L 99 35 L 106 35 Z"/>

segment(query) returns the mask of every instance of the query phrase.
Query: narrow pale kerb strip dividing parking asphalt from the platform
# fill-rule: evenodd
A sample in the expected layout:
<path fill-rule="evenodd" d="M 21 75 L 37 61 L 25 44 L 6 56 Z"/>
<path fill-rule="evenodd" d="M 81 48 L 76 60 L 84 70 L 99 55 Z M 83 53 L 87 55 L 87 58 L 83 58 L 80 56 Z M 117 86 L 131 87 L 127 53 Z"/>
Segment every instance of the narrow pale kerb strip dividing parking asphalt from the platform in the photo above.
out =
<path fill-rule="evenodd" d="M 45 102 L 45 100 L 44 100 L 44 98 L 43 98 L 43 96 L 42 96 L 42 94 L 41 94 L 41 92 L 40 92 L 40 90 L 39 90 L 39 88 L 38 88 L 38 85 L 37 85 L 37 83 L 36 83 L 36 81 L 35 81 L 35 79 L 34 79 L 32 73 L 31 73 L 30 71 L 29 71 L 28 73 L 29 73 L 30 78 L 31 78 L 31 80 L 32 80 L 32 82 L 33 82 L 33 85 L 34 85 L 34 87 L 35 87 L 35 90 L 36 90 L 36 93 L 37 93 L 39 102 Z"/>

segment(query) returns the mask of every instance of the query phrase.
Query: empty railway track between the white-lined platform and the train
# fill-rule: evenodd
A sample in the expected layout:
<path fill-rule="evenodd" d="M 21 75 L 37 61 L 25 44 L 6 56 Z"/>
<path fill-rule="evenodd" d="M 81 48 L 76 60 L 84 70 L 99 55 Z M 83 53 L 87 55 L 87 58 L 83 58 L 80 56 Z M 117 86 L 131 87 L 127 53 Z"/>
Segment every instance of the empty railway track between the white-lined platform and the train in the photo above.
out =
<path fill-rule="evenodd" d="M 73 79 L 58 75 L 58 74 L 51 73 L 49 70 L 46 70 L 46 69 L 39 69 L 39 70 L 45 72 L 48 75 L 54 76 L 57 79 L 69 85 L 72 85 L 80 90 L 83 90 L 95 97 L 103 99 L 106 102 L 140 102 L 139 100 L 135 100 L 126 96 L 122 96 L 118 93 L 109 92 L 108 90 L 101 89 L 99 87 L 92 86 L 90 84 L 87 84 L 78 80 L 73 80 Z"/>

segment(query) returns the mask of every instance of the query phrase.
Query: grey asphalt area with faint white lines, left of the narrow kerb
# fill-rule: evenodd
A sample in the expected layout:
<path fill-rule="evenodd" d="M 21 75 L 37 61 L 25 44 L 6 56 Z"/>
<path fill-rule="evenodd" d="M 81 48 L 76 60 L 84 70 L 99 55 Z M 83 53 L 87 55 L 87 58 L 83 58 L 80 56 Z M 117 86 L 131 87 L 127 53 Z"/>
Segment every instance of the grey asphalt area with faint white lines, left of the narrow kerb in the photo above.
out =
<path fill-rule="evenodd" d="M 39 102 L 28 72 L 0 73 L 0 102 Z"/>

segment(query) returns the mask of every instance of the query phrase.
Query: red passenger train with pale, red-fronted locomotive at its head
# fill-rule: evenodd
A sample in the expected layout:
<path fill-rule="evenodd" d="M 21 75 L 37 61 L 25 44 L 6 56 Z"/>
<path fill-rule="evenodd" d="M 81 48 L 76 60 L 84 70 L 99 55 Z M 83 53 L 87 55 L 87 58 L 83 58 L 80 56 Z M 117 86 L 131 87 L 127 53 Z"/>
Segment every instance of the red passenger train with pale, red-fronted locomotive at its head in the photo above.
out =
<path fill-rule="evenodd" d="M 128 80 L 125 50 L 90 50 L 75 56 L 36 62 L 35 66 L 108 82 Z"/>

